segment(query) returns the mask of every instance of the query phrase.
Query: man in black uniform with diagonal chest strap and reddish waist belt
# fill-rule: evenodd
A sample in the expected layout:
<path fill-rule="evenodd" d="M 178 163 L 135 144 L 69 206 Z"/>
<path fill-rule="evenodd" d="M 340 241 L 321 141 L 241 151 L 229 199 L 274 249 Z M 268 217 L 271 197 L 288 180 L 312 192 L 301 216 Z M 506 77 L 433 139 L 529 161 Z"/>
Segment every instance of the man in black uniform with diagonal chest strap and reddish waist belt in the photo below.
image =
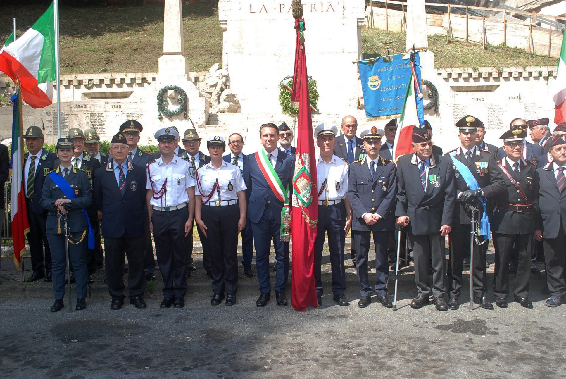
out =
<path fill-rule="evenodd" d="M 522 129 L 506 131 L 501 135 L 507 156 L 498 162 L 504 174 L 507 191 L 491 198 L 491 232 L 495 248 L 495 305 L 507 308 L 509 295 L 509 261 L 517 250 L 517 269 L 514 300 L 525 308 L 533 308 L 529 300 L 531 253 L 533 233 L 538 230 L 538 173 L 534 163 L 524 160 L 523 142 L 527 134 Z"/>

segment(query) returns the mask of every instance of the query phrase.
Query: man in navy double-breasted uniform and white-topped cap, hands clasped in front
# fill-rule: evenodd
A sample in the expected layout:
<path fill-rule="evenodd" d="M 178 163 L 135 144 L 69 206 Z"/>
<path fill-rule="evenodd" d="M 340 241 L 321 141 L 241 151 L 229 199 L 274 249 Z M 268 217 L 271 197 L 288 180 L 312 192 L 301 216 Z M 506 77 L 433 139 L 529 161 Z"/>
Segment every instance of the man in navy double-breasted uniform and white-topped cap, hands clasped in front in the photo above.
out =
<path fill-rule="evenodd" d="M 350 164 L 348 178 L 348 198 L 353 211 L 352 233 L 356 249 L 356 270 L 360 284 L 360 308 L 371 304 L 371 294 L 367 274 L 367 260 L 372 233 L 375 245 L 375 293 L 381 305 L 392 308 L 387 296 L 389 267 L 387 243 L 389 234 L 395 228 L 393 207 L 397 191 L 397 169 L 395 163 L 379 156 L 383 129 L 373 126 L 360 134 L 367 155 Z"/>

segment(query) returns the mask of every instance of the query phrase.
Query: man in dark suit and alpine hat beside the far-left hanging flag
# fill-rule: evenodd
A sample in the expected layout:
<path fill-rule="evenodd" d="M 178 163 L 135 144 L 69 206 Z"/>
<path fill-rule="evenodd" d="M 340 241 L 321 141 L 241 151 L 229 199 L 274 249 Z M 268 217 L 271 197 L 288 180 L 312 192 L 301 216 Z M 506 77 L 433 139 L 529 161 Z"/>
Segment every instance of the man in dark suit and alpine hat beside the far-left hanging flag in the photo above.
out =
<path fill-rule="evenodd" d="M 24 155 L 24 172 L 22 177 L 24 178 L 25 207 L 27 208 L 29 221 L 29 253 L 32 258 L 33 270 L 32 276 L 28 278 L 28 282 L 35 282 L 44 277 L 45 282 L 51 282 L 51 252 L 45 233 L 47 211 L 41 206 L 40 202 L 45 175 L 53 169 L 57 156 L 43 148 L 44 135 L 40 127 L 28 127 L 23 137 L 25 146 L 28 148 L 28 152 Z M 0 155 L 1 158 L 2 156 Z M 2 191 L 3 195 L 4 191 Z M 2 201 L 3 204 L 4 202 Z"/>

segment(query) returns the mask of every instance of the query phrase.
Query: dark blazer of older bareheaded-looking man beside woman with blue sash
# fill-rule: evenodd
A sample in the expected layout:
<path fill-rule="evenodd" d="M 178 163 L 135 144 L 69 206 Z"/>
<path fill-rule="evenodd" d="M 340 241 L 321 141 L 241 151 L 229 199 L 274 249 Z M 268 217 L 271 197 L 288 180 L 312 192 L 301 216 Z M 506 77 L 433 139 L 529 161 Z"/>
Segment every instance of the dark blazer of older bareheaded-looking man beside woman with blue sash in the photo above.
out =
<path fill-rule="evenodd" d="M 126 231 L 132 237 L 143 236 L 145 209 L 145 168 L 128 162 L 126 193 L 122 196 L 114 174 L 114 161 L 98 168 L 95 174 L 94 197 L 102 211 L 102 236 L 119 238 Z"/>

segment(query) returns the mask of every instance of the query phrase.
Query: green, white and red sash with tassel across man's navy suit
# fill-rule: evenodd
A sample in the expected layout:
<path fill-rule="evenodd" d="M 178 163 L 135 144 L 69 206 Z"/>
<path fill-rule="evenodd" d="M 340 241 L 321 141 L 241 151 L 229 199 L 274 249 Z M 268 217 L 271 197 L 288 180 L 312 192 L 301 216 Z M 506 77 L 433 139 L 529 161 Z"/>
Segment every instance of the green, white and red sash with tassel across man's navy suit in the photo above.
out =
<path fill-rule="evenodd" d="M 259 169 L 267 184 L 277 197 L 283 203 L 281 209 L 281 241 L 291 241 L 291 208 L 289 207 L 289 186 L 284 187 L 280 178 L 277 176 L 273 165 L 269 161 L 265 150 L 261 149 L 255 153 L 255 159 L 258 161 Z"/>

